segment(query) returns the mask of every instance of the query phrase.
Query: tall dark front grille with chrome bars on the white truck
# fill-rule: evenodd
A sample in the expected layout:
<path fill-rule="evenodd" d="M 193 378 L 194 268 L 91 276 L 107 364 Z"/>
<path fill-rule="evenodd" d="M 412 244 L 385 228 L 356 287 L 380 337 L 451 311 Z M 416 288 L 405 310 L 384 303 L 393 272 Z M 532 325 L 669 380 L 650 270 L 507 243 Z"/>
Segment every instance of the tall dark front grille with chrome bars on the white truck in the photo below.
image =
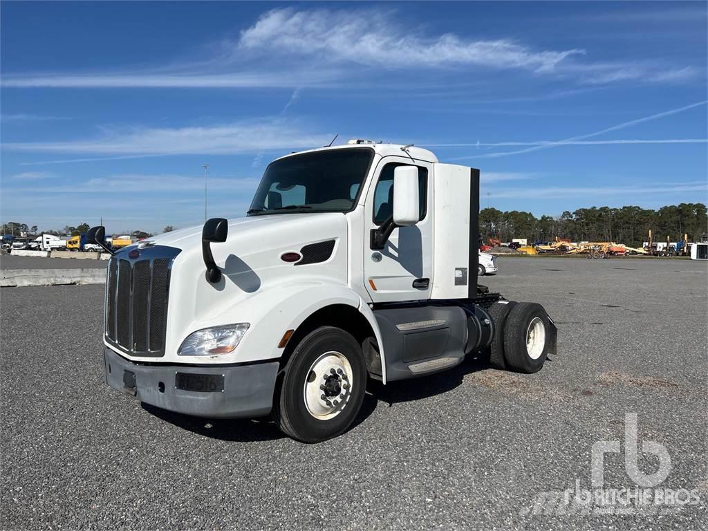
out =
<path fill-rule="evenodd" d="M 172 262 L 180 252 L 165 246 L 120 251 L 108 263 L 105 339 L 123 352 L 159 358 L 165 353 L 167 297 Z"/>

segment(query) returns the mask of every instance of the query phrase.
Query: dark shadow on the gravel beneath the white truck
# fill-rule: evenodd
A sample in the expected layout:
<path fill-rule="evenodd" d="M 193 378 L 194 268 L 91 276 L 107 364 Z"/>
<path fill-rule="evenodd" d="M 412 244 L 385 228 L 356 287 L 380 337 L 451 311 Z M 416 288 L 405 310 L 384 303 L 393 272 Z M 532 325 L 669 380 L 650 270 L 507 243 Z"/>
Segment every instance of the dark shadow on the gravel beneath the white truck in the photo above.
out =
<path fill-rule="evenodd" d="M 426 399 L 429 396 L 450 392 L 462 384 L 466 375 L 488 368 L 489 363 L 483 355 L 468 355 L 457 367 L 435 375 L 391 382 L 385 386 L 381 382 L 370 380 L 361 411 L 349 430 L 366 421 L 379 407 L 379 404 L 392 407 L 393 404 Z M 141 406 L 142 409 L 163 421 L 209 438 L 229 442 L 255 442 L 285 438 L 285 435 L 269 417 L 208 419 L 174 413 L 145 403 L 142 403 Z"/>

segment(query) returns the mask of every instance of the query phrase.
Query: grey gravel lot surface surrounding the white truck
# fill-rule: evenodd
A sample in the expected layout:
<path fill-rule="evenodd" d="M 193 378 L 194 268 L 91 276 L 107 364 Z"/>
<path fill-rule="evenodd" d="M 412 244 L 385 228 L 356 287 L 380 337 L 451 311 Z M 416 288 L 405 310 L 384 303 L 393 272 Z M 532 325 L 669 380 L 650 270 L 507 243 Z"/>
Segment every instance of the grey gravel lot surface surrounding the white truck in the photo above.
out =
<path fill-rule="evenodd" d="M 516 375 L 472 359 L 372 385 L 355 426 L 319 445 L 268 421 L 141 407 L 106 387 L 101 286 L 3 290 L 0 527 L 705 529 L 707 264 L 499 265 L 481 283 L 541 302 L 558 324 L 559 353 L 544 369 Z M 590 447 L 623 441 L 625 413 L 637 413 L 640 443 L 668 450 L 659 486 L 700 489 L 701 502 L 537 514 L 539 493 L 576 479 L 589 488 Z M 657 463 L 639 459 L 647 474 Z M 605 486 L 636 486 L 622 455 L 607 455 Z"/>

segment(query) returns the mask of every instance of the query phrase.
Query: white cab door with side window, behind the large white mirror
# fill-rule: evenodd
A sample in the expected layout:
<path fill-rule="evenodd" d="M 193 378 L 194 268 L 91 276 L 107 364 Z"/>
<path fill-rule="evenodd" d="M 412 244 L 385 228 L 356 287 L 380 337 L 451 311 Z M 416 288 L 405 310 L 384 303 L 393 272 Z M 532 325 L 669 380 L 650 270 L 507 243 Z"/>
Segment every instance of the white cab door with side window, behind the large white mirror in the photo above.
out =
<path fill-rule="evenodd" d="M 370 234 L 393 213 L 394 169 L 418 168 L 420 218 L 409 227 L 393 230 L 384 249 L 371 249 Z M 364 280 L 373 302 L 430 298 L 433 279 L 433 164 L 405 157 L 387 156 L 379 161 L 374 185 L 365 203 Z"/>

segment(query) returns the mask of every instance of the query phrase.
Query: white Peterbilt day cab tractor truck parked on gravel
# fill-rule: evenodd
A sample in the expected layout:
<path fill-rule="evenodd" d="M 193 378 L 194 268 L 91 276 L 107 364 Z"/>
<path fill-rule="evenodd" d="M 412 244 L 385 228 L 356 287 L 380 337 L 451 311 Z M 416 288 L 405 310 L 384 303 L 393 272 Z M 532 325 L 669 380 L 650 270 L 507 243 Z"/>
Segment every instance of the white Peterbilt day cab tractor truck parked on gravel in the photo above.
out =
<path fill-rule="evenodd" d="M 272 414 L 318 442 L 383 384 L 487 353 L 536 372 L 539 304 L 477 285 L 479 170 L 350 141 L 276 159 L 246 217 L 140 241 L 108 263 L 106 382 L 205 418 Z M 94 227 L 90 241 L 103 241 Z"/>

